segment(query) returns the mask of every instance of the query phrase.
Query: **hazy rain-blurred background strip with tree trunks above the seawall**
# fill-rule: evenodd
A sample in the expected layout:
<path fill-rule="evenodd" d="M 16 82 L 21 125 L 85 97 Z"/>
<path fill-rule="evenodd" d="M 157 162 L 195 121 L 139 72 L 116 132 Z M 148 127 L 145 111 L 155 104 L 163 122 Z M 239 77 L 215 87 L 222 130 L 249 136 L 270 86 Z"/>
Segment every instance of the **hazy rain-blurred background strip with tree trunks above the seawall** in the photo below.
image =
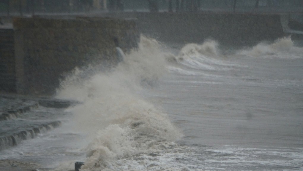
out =
<path fill-rule="evenodd" d="M 303 0 L 1 0 L 0 16 L 92 11 L 303 13 Z"/>

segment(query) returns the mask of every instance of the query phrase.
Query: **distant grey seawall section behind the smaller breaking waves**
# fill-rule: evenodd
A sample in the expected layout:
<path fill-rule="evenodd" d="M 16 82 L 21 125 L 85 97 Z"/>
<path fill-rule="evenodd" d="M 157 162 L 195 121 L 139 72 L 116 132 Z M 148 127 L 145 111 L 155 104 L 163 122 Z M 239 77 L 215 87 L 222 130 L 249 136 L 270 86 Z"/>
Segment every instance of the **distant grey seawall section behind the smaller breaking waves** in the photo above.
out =
<path fill-rule="evenodd" d="M 138 30 L 164 42 L 248 45 L 285 36 L 280 15 L 135 13 Z"/>

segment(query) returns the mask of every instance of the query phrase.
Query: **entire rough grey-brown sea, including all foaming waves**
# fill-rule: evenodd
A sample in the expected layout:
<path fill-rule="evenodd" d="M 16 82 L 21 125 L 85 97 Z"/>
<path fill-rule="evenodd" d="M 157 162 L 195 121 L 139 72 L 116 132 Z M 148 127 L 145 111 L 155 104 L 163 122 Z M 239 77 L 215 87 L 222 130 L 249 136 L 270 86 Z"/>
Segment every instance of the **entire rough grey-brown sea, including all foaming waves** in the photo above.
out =
<path fill-rule="evenodd" d="M 115 68 L 76 68 L 62 127 L 0 152 L 39 170 L 303 170 L 303 48 L 141 37 Z M 51 109 L 48 109 L 51 110 Z"/>

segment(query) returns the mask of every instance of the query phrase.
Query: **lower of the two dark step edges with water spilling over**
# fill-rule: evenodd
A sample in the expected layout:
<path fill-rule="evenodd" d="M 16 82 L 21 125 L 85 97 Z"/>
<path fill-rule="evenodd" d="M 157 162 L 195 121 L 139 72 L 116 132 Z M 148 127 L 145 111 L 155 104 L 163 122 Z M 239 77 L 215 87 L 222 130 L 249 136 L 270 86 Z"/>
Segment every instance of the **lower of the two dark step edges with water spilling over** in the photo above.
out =
<path fill-rule="evenodd" d="M 59 127 L 61 121 L 52 121 L 45 124 L 34 125 L 30 128 L 19 129 L 19 131 L 0 134 L 0 150 L 13 147 L 21 143 L 22 140 L 28 140 L 37 137 L 40 133 L 45 133 L 53 128 Z M 24 127 L 24 126 L 21 126 Z"/>

